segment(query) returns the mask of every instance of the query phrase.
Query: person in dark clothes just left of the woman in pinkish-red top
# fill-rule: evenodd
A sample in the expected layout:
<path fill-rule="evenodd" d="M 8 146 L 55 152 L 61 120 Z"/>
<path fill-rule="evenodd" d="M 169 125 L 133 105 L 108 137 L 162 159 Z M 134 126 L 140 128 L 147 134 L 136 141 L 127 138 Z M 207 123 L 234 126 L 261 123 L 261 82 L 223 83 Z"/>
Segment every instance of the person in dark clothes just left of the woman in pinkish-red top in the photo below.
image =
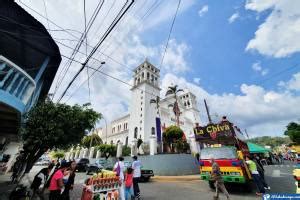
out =
<path fill-rule="evenodd" d="M 49 174 L 54 165 L 52 163 L 49 164 L 48 167 L 41 169 L 33 178 L 33 181 L 30 185 L 32 189 L 31 199 L 37 195 L 40 199 L 44 199 L 44 185 L 47 182 Z"/>

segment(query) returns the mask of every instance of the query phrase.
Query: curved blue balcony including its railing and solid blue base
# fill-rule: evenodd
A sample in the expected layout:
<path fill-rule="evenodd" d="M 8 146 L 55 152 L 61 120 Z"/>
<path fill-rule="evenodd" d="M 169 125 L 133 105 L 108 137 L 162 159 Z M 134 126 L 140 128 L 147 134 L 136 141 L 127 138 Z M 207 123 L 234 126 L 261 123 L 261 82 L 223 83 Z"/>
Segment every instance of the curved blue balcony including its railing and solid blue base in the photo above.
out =
<path fill-rule="evenodd" d="M 0 102 L 23 113 L 35 88 L 35 81 L 24 70 L 0 55 Z"/>

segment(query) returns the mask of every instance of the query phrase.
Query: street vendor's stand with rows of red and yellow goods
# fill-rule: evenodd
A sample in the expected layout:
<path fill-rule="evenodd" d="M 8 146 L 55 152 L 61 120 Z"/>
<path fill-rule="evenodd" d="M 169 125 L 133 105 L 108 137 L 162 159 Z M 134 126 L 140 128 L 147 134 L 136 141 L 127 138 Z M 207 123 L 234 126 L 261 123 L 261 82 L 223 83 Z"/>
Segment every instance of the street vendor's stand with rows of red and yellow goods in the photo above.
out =
<path fill-rule="evenodd" d="M 116 172 L 102 170 L 84 184 L 81 200 L 119 200 L 122 182 Z"/>

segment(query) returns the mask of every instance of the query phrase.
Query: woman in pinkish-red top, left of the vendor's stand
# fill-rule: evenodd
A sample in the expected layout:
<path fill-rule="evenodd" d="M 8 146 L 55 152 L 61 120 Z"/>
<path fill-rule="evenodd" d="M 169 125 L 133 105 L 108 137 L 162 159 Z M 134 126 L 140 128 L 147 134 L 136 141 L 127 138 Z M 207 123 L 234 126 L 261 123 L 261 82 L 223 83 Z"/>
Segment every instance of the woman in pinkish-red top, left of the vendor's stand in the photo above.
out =
<path fill-rule="evenodd" d="M 61 190 L 64 187 L 63 177 L 66 175 L 69 163 L 61 164 L 50 180 L 49 200 L 61 200 Z"/>

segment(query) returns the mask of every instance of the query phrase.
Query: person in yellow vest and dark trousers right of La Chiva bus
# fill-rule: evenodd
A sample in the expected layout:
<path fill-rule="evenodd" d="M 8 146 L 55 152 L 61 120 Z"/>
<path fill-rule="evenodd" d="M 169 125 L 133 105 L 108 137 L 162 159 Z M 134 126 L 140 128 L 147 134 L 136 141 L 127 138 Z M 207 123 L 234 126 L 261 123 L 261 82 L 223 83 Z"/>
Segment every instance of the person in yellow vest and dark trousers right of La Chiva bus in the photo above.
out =
<path fill-rule="evenodd" d="M 246 156 L 246 163 L 249 166 L 249 170 L 251 172 L 253 181 L 255 182 L 255 185 L 258 189 L 258 192 L 256 192 L 256 195 L 262 196 L 266 192 L 266 190 L 264 188 L 262 178 L 260 177 L 259 172 L 257 170 L 257 166 L 256 166 L 255 162 L 250 159 L 249 156 Z"/>

